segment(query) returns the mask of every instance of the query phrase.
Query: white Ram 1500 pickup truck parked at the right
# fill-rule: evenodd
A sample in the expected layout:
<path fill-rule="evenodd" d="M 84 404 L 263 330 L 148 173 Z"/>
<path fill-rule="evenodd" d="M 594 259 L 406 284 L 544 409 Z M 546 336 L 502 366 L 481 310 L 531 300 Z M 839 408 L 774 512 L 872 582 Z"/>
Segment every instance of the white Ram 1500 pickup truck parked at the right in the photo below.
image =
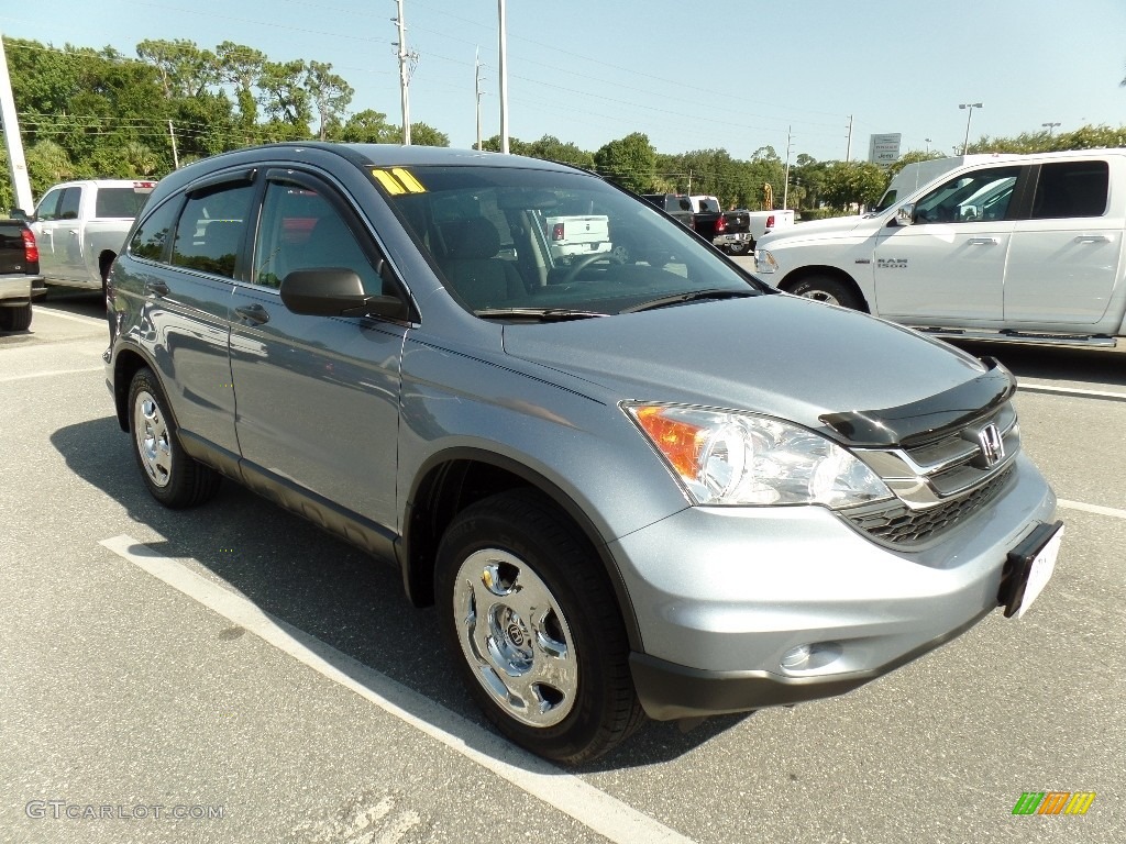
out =
<path fill-rule="evenodd" d="M 1126 150 L 991 156 L 876 214 L 767 235 L 756 275 L 938 336 L 1115 345 L 1124 233 Z"/>

